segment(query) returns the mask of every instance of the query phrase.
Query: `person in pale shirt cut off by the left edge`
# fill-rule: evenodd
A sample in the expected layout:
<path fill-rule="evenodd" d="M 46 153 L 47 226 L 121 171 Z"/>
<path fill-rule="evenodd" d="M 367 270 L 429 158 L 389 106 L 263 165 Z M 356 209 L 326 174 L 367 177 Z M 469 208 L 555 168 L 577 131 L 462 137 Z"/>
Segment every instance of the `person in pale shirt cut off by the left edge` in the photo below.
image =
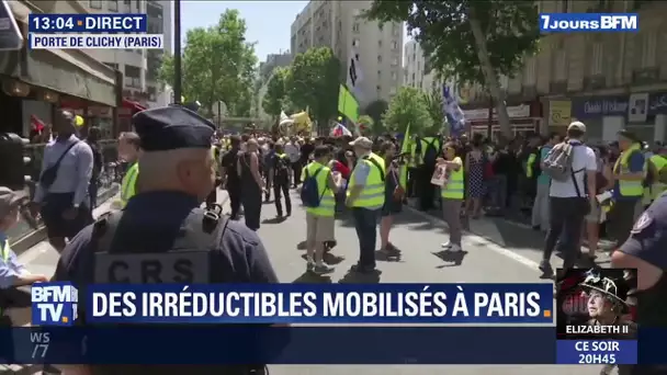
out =
<path fill-rule="evenodd" d="M 24 326 L 31 319 L 30 292 L 16 286 L 46 282 L 45 275 L 31 274 L 9 247 L 8 231 L 19 223 L 21 204 L 27 201 L 25 192 L 14 192 L 0 186 L 0 316 L 9 317 L 12 326 Z"/>

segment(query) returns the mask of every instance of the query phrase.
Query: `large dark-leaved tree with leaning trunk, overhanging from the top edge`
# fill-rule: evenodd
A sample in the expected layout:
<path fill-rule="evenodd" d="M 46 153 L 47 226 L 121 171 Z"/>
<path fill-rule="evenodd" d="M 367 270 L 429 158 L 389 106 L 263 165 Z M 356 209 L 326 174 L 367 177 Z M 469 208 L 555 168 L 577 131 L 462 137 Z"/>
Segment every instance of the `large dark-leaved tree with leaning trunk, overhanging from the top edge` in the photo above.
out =
<path fill-rule="evenodd" d="M 523 58 L 538 49 L 540 29 L 534 1 L 374 0 L 365 16 L 405 21 L 408 31 L 443 77 L 459 83 L 481 83 L 494 99 L 498 122 L 511 135 L 499 75 L 512 77 Z"/>

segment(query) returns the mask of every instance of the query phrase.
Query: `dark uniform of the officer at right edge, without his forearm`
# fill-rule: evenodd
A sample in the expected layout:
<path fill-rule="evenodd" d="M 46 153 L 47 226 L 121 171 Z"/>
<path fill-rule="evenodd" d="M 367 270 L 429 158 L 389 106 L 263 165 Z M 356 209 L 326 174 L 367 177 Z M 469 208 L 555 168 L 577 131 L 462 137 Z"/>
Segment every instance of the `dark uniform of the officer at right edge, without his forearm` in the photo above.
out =
<path fill-rule="evenodd" d="M 667 194 L 659 196 L 637 219 L 630 238 L 618 251 L 642 259 L 663 270 L 648 289 L 632 293 L 640 327 L 667 327 Z M 633 302 L 633 299 L 635 302 Z M 665 366 L 633 366 L 632 374 L 665 374 Z"/>

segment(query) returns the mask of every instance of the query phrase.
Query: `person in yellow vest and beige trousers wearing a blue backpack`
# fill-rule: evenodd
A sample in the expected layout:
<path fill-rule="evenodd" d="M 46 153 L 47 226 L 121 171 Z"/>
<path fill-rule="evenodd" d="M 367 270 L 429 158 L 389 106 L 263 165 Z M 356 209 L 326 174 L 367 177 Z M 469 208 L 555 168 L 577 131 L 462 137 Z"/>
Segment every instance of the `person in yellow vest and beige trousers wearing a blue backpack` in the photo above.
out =
<path fill-rule="evenodd" d="M 335 178 L 329 168 L 329 147 L 315 147 L 313 157 L 314 160 L 304 167 L 304 177 L 317 181 L 317 192 L 321 198 L 317 207 L 306 207 L 306 270 L 325 274 L 332 271 L 324 263 L 324 253 L 326 242 L 336 240 L 336 193 L 340 179 Z"/>

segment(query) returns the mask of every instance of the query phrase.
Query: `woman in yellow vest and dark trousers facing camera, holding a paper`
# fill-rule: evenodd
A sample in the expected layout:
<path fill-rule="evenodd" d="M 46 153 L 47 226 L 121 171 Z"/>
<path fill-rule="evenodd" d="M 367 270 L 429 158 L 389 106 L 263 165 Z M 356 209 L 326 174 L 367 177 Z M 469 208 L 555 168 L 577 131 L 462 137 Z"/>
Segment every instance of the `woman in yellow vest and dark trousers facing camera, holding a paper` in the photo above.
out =
<path fill-rule="evenodd" d="M 446 168 L 446 182 L 440 189 L 442 197 L 442 215 L 450 231 L 450 240 L 442 248 L 450 251 L 461 251 L 463 226 L 461 224 L 461 205 L 464 193 L 463 160 L 456 156 L 454 144 L 444 145 L 444 159 L 438 159 L 438 166 Z"/>

